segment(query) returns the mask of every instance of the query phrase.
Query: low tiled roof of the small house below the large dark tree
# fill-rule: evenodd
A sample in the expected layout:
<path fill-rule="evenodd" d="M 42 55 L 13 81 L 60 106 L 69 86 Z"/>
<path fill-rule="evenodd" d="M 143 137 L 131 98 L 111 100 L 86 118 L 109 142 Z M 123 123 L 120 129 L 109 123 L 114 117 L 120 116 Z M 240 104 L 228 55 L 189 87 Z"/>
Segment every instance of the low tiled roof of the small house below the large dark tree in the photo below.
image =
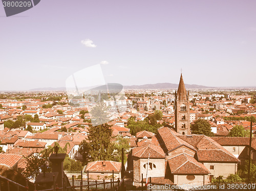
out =
<path fill-rule="evenodd" d="M 121 162 L 115 161 L 93 161 L 89 162 L 86 166 L 86 171 L 89 172 L 121 172 Z"/>

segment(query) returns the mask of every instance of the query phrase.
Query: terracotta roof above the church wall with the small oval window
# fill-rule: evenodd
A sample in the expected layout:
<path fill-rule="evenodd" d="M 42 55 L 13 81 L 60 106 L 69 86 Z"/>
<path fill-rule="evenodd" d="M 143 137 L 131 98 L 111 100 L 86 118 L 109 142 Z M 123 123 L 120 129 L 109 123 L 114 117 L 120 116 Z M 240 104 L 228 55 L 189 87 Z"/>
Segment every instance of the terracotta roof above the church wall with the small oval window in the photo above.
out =
<path fill-rule="evenodd" d="M 207 175 L 210 172 L 194 157 L 187 154 L 180 154 L 173 158 L 168 159 L 168 164 L 172 174 L 204 174 Z"/>

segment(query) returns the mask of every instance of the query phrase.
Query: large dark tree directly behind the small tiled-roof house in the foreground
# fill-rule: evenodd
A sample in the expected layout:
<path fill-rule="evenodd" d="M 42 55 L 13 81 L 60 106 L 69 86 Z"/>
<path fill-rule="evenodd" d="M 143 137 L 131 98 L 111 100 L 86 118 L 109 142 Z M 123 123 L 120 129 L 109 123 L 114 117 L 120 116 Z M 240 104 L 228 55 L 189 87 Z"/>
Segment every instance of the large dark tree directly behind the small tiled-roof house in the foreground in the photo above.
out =
<path fill-rule="evenodd" d="M 114 151 L 112 143 L 112 129 L 108 124 L 101 124 L 88 129 L 89 135 L 80 145 L 78 153 L 82 155 L 83 162 L 95 160 L 111 160 Z"/>

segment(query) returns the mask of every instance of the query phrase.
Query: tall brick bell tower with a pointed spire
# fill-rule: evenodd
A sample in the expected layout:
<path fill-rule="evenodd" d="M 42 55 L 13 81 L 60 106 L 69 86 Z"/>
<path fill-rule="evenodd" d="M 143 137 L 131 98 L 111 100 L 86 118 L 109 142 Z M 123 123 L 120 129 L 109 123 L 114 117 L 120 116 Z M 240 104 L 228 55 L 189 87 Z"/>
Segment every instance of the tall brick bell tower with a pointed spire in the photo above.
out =
<path fill-rule="evenodd" d="M 189 92 L 186 92 L 182 74 L 178 91 L 175 91 L 175 130 L 183 135 L 190 134 Z"/>

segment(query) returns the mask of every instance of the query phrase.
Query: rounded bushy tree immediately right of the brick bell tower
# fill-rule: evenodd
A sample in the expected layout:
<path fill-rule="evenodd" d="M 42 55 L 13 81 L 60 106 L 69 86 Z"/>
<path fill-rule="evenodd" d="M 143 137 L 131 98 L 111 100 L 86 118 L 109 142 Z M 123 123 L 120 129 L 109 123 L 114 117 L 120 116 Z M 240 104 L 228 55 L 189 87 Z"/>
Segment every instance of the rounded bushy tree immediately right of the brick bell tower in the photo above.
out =
<path fill-rule="evenodd" d="M 206 136 L 214 136 L 214 133 L 211 132 L 210 124 L 207 120 L 199 118 L 194 124 L 190 127 L 191 133 L 193 134 L 204 134 Z"/>

